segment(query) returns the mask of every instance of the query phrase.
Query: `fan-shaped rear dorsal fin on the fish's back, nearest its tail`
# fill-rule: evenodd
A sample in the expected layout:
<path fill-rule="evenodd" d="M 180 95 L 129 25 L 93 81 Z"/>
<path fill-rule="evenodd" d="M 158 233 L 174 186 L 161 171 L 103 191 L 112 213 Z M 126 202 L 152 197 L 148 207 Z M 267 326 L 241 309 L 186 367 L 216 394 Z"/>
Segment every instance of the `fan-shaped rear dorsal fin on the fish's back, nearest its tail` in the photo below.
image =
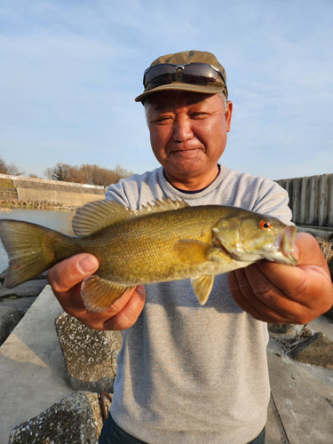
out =
<path fill-rule="evenodd" d="M 136 213 L 121 203 L 113 201 L 90 202 L 79 208 L 73 218 L 73 230 L 77 236 L 88 236 L 135 216 Z"/>

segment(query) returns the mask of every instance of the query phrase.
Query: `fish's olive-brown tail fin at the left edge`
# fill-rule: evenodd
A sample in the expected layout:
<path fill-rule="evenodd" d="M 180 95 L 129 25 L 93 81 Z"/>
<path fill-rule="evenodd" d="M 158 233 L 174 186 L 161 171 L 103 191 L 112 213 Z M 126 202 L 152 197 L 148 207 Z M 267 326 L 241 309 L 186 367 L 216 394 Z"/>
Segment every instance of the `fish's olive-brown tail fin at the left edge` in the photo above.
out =
<path fill-rule="evenodd" d="M 7 251 L 9 267 L 4 287 L 12 289 L 56 264 L 51 238 L 59 233 L 19 220 L 0 220 L 0 238 Z M 63 236 L 63 234 L 59 234 Z"/>

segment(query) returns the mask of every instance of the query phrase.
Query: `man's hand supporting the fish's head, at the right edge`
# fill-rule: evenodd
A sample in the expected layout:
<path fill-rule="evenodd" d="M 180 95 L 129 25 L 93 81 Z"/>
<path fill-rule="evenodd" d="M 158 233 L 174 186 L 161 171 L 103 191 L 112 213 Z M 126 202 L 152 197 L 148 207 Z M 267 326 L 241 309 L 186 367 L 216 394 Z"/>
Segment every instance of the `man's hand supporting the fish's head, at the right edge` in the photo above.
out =
<path fill-rule="evenodd" d="M 236 303 L 259 321 L 305 324 L 333 305 L 333 285 L 321 249 L 310 234 L 296 237 L 297 266 L 262 260 L 228 274 Z"/>

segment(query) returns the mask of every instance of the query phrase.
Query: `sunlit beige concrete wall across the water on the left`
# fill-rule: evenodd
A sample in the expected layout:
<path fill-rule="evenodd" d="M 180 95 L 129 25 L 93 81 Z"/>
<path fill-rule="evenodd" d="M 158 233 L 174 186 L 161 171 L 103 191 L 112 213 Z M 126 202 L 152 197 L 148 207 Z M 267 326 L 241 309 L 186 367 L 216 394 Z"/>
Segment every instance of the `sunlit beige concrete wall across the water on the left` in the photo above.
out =
<path fill-rule="evenodd" d="M 23 178 L 0 174 L 0 179 L 11 179 L 18 198 L 22 201 L 57 202 L 81 207 L 87 202 L 104 199 L 107 188 L 42 178 Z"/>

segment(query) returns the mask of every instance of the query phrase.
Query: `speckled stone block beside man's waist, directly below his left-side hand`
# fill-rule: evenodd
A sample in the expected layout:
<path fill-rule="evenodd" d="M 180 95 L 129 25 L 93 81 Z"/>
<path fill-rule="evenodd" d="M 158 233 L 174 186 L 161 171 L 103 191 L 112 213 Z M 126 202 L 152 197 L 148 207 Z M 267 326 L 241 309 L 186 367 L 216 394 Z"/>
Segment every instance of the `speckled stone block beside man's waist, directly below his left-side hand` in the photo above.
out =
<path fill-rule="evenodd" d="M 113 392 L 116 355 L 122 346 L 122 334 L 91 329 L 64 312 L 56 317 L 55 325 L 70 387 L 91 392 Z"/>

